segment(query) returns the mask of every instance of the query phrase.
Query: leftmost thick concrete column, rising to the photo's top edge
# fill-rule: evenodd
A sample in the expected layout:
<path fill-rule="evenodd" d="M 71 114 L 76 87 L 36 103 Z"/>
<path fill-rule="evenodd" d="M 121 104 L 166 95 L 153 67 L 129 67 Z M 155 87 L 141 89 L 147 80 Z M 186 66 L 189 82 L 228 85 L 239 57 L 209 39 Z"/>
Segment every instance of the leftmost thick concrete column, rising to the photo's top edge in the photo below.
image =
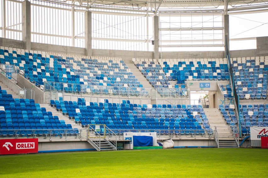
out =
<path fill-rule="evenodd" d="M 22 2 L 22 48 L 31 50 L 31 3 Z"/>

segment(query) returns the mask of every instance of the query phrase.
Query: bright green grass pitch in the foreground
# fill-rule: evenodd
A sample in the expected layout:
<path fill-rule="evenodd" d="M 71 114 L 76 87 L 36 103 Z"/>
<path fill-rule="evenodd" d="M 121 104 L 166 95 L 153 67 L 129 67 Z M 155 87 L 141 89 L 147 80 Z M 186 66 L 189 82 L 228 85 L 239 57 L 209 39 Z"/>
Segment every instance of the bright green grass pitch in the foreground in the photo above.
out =
<path fill-rule="evenodd" d="M 268 149 L 155 149 L 0 156 L 0 177 L 267 177 Z"/>

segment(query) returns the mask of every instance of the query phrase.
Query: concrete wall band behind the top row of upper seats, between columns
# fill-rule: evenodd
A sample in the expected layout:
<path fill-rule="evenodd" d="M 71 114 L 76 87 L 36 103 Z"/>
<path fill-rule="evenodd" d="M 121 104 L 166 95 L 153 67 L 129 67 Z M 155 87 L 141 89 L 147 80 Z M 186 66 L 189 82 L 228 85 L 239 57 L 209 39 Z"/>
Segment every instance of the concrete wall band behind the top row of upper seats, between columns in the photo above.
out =
<path fill-rule="evenodd" d="M 257 37 L 257 49 L 233 50 L 231 57 L 251 57 L 268 55 L 268 37 Z M 22 49 L 22 41 L 0 38 L 0 45 L 5 47 Z M 42 44 L 31 42 L 31 50 L 57 52 L 64 54 L 86 55 L 85 48 L 61 46 L 53 44 Z M 129 51 L 129 50 L 102 50 L 92 49 L 93 56 L 122 57 L 128 63 L 132 58 L 153 58 L 152 51 Z M 162 59 L 187 59 L 187 58 L 224 58 L 224 51 L 186 51 L 186 52 L 161 52 Z"/>

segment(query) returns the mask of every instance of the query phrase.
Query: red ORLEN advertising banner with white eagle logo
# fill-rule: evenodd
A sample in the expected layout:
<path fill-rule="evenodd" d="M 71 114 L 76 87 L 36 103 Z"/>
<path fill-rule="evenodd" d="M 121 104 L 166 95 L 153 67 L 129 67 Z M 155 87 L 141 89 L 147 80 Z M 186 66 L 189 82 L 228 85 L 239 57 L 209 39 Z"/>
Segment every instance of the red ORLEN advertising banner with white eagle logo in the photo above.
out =
<path fill-rule="evenodd" d="M 0 139 L 0 154 L 38 153 L 38 139 Z"/>

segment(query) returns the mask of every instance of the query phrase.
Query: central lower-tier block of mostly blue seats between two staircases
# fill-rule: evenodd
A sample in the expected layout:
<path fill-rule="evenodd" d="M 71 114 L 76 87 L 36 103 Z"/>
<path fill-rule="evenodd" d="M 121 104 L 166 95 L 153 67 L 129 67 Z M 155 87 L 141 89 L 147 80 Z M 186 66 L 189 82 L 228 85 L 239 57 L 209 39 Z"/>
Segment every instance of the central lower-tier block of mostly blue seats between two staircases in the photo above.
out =
<path fill-rule="evenodd" d="M 59 101 L 52 100 L 51 105 L 74 118 L 75 122 L 81 122 L 82 126 L 106 124 L 116 133 L 121 129 L 168 130 L 168 133 L 174 132 L 174 129 L 202 130 L 199 124 L 203 124 L 208 133 L 212 133 L 201 105 L 137 105 L 126 101 L 93 103 L 81 98 L 78 102 L 63 101 L 60 98 Z M 166 132 L 163 131 L 162 134 Z"/>

